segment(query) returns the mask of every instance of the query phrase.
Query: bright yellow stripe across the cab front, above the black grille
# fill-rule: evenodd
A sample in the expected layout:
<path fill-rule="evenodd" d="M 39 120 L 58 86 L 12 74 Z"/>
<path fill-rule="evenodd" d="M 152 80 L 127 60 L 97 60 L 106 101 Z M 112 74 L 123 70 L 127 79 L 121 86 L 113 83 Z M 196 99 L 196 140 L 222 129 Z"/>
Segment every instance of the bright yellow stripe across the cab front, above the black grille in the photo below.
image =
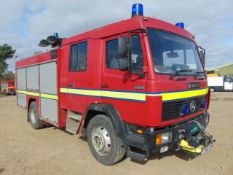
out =
<path fill-rule="evenodd" d="M 166 92 L 159 94 L 147 94 L 147 96 L 162 96 L 163 101 L 169 100 L 178 100 L 196 96 L 206 95 L 208 93 L 208 88 L 206 89 L 198 89 L 198 90 L 190 90 L 190 91 L 181 91 L 181 92 Z"/>

